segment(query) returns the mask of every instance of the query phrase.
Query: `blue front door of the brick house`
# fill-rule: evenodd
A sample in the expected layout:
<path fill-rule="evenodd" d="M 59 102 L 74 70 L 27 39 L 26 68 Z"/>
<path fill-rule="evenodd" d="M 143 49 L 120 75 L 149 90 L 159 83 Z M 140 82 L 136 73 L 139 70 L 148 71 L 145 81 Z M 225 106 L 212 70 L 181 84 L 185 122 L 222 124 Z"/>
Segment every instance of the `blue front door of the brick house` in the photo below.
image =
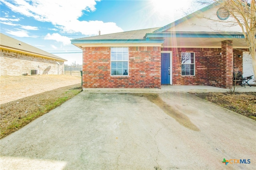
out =
<path fill-rule="evenodd" d="M 161 53 L 161 84 L 170 84 L 170 53 Z"/>

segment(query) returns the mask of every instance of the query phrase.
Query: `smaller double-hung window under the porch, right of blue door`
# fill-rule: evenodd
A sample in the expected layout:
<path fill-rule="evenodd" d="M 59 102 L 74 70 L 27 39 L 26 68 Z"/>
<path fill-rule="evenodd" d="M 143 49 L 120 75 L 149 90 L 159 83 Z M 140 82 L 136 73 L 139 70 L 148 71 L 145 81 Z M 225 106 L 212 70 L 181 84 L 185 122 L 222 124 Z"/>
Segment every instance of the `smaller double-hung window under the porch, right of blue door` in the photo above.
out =
<path fill-rule="evenodd" d="M 181 53 L 181 75 L 195 75 L 195 53 Z"/>

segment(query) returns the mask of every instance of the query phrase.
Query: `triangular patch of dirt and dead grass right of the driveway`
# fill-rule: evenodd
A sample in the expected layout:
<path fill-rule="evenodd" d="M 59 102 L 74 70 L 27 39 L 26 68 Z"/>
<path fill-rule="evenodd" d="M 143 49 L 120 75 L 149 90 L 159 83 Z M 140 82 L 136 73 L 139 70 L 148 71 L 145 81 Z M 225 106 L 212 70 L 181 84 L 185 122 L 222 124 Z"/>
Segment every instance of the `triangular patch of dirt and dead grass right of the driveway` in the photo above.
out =
<path fill-rule="evenodd" d="M 256 92 L 194 93 L 194 95 L 256 120 Z"/>

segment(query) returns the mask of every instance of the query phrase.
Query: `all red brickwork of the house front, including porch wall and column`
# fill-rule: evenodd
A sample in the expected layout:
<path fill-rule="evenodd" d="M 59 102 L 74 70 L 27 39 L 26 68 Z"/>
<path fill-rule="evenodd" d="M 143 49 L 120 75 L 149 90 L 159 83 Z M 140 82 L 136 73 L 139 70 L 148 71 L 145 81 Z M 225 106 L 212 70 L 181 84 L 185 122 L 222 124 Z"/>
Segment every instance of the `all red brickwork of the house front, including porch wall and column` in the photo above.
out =
<path fill-rule="evenodd" d="M 242 51 L 225 41 L 222 49 L 129 47 L 129 76 L 110 75 L 110 47 L 83 48 L 84 88 L 160 88 L 161 53 L 172 51 L 173 85 L 209 85 L 227 88 L 234 67 L 242 70 Z M 195 53 L 195 76 L 181 75 L 181 53 Z M 220 55 L 222 53 L 222 55 Z M 226 74 L 227 72 L 227 74 Z"/>

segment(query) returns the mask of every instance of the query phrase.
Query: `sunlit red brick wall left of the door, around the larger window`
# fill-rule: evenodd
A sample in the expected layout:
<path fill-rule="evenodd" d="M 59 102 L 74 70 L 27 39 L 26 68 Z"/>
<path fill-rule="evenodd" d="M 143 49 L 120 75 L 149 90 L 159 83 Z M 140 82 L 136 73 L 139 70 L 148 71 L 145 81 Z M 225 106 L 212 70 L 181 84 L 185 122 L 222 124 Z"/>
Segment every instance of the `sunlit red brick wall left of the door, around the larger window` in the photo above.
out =
<path fill-rule="evenodd" d="M 110 75 L 110 49 L 83 48 L 83 88 L 161 88 L 160 47 L 129 47 L 129 76 Z"/>

